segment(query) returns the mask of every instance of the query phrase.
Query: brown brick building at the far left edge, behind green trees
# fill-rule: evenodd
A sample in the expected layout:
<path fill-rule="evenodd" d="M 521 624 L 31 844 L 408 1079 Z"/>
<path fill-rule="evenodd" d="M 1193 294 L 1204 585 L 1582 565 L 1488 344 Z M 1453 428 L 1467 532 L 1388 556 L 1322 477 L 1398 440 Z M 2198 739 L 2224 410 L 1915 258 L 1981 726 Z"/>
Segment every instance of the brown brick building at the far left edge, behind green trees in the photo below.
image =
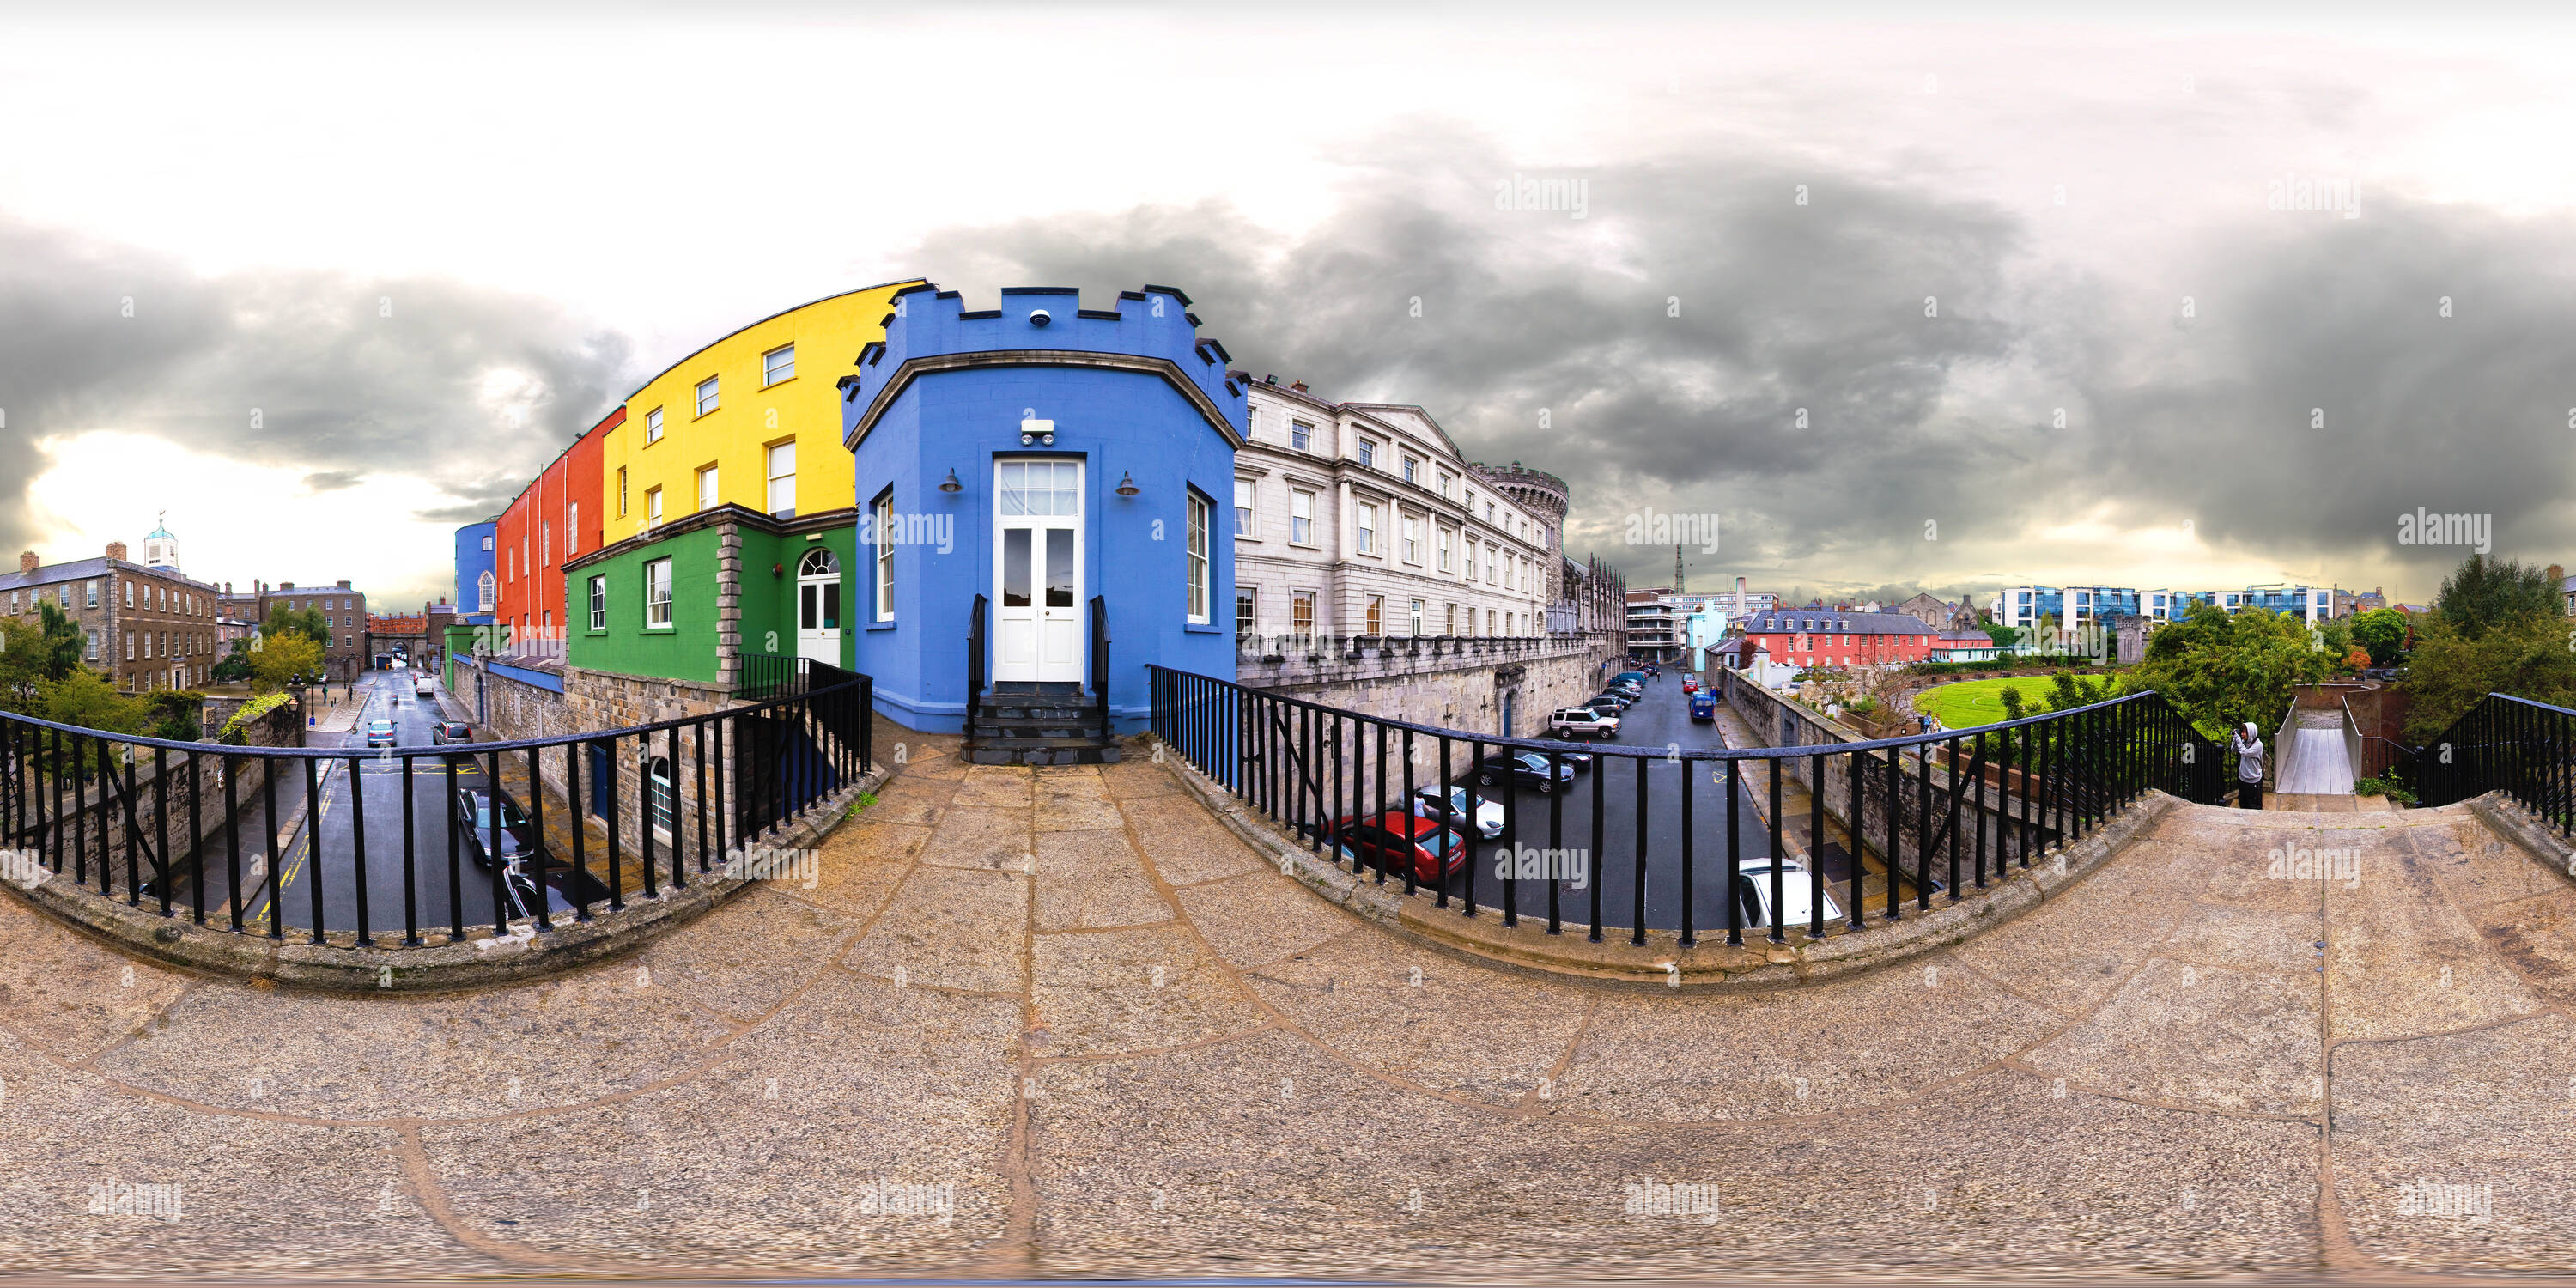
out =
<path fill-rule="evenodd" d="M 54 603 L 82 634 L 80 657 L 126 693 L 198 688 L 222 657 L 216 587 L 188 580 L 175 564 L 126 559 L 108 541 L 100 559 L 44 564 L 18 554 L 18 572 L 0 577 L 0 613 L 33 626 L 36 605 Z"/>

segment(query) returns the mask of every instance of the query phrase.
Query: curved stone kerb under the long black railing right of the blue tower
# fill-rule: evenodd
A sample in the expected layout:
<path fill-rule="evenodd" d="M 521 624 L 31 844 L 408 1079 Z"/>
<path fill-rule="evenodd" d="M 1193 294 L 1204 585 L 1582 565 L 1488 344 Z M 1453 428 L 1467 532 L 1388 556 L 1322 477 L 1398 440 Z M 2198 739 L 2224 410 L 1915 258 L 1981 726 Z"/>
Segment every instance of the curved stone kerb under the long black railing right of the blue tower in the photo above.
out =
<path fill-rule="evenodd" d="M 1154 742 L 1159 744 L 1159 739 Z M 2148 791 L 2133 809 L 2105 822 L 2094 835 L 2043 855 L 2045 863 L 2014 871 L 1973 899 L 1947 907 L 1935 904 L 1932 912 L 1909 909 L 1893 925 L 1875 922 L 1868 930 L 1826 935 L 1824 940 L 1811 940 L 1793 930 L 1783 945 L 1752 940 L 1741 948 L 1726 945 L 1726 927 L 1718 927 L 1716 935 L 1703 933 L 1700 943 L 1682 948 L 1680 933 L 1672 930 L 1649 930 L 1646 943 L 1633 945 L 1625 930 L 1613 933 L 1602 927 L 1602 943 L 1592 943 L 1589 922 L 1577 927 L 1569 920 L 1564 933 L 1548 935 L 1546 920 L 1522 917 L 1517 927 L 1504 927 L 1502 912 L 1494 907 L 1481 907 L 1476 917 L 1466 917 L 1458 912 L 1455 899 L 1448 909 L 1435 907 L 1427 896 L 1406 899 L 1401 884 L 1378 886 L 1373 873 L 1355 876 L 1314 858 L 1296 837 L 1255 814 L 1180 755 L 1164 750 L 1162 765 L 1198 804 L 1252 845 L 1255 853 L 1358 917 L 1409 930 L 1440 948 L 1504 966 L 1530 966 L 1582 979 L 1726 992 L 1821 984 L 1893 966 L 1994 930 L 2084 881 L 2182 804 L 2164 791 Z"/>

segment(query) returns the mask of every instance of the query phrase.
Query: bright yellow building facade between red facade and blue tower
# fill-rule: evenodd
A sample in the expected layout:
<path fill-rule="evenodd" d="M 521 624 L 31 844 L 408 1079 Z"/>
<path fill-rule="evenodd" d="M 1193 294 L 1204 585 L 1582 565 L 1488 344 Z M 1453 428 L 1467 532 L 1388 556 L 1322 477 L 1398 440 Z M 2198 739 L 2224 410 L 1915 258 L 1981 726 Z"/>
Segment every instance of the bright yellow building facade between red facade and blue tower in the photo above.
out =
<path fill-rule="evenodd" d="M 894 294 L 866 286 L 762 317 L 644 381 L 600 443 L 600 536 L 641 536 L 716 505 L 783 515 L 855 507 L 840 379 L 884 340 Z"/>

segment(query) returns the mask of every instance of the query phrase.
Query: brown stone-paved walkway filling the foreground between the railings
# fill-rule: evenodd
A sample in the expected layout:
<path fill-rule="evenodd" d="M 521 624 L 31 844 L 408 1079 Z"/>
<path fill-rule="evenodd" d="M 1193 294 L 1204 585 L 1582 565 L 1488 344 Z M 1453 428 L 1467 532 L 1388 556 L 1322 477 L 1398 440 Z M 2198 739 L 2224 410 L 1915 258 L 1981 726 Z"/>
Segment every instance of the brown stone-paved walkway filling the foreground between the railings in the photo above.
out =
<path fill-rule="evenodd" d="M 513 989 L 252 989 L 0 899 L 0 1270 L 2576 1260 L 2576 889 L 2465 811 L 2184 806 L 1955 951 L 1705 994 L 1352 920 L 1149 757 L 909 760 L 811 886 Z"/>

